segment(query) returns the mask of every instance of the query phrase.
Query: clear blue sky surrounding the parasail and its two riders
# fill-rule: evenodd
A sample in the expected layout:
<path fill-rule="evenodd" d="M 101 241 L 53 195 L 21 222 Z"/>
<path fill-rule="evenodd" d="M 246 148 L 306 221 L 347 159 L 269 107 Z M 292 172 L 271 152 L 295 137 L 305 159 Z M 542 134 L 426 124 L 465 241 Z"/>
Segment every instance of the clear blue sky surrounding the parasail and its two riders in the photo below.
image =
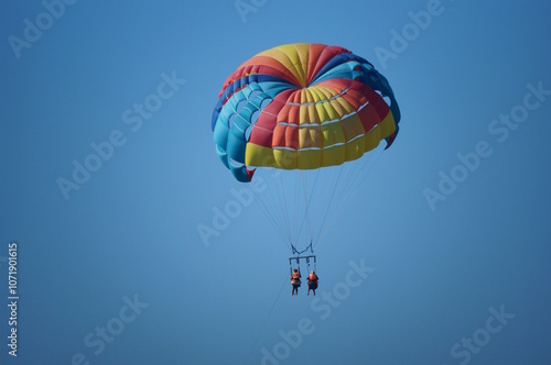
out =
<path fill-rule="evenodd" d="M 549 1 L 48 1 L 1 3 L 2 364 L 551 363 Z M 294 42 L 369 59 L 402 111 L 316 299 L 210 130 L 226 77 Z"/>

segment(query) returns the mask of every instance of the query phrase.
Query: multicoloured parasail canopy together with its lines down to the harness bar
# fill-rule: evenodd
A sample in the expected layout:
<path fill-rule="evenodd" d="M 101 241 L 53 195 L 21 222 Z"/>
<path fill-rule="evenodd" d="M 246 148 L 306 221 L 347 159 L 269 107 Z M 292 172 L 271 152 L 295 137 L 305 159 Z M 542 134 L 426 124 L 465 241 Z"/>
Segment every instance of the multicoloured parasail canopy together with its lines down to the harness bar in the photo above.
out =
<path fill-rule="evenodd" d="M 339 46 L 295 43 L 259 53 L 224 82 L 213 112 L 216 154 L 241 182 L 262 175 L 261 209 L 291 248 L 291 270 L 314 250 L 365 166 L 345 168 L 398 134 L 387 79 Z M 379 148 L 380 150 L 380 148 Z M 367 154 L 369 155 L 369 154 Z M 309 253 L 302 255 L 303 253 Z"/>

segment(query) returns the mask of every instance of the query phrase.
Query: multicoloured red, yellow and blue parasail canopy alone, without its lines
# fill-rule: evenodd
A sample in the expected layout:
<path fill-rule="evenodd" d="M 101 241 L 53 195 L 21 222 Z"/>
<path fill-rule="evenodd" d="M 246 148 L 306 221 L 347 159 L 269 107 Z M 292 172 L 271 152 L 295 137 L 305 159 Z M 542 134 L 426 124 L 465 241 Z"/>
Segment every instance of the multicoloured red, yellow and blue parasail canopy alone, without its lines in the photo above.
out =
<path fill-rule="evenodd" d="M 264 51 L 224 82 L 213 113 L 216 153 L 239 181 L 258 167 L 315 169 L 357 159 L 398 133 L 387 79 L 366 59 L 323 44 Z"/>

